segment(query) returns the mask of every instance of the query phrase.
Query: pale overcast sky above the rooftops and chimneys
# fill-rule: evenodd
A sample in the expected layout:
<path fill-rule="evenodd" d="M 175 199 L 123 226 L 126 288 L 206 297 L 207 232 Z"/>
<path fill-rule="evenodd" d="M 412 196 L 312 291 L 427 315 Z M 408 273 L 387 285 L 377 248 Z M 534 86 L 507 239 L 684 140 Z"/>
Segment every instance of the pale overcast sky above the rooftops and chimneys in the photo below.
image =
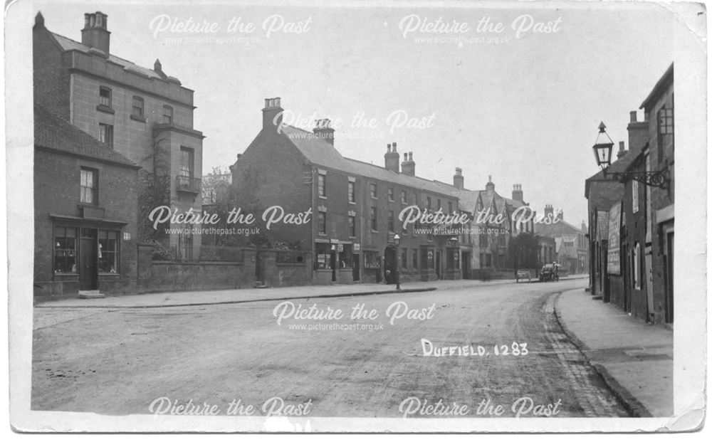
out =
<path fill-rule="evenodd" d="M 36 2 L 48 29 L 77 41 L 85 12 L 108 14 L 113 54 L 147 67 L 160 58 L 195 91 L 204 174 L 234 162 L 261 129 L 263 99 L 279 96 L 301 117 L 297 126 L 340 119 L 335 146 L 346 157 L 382 165 L 395 141 L 413 152 L 419 176 L 451 183 L 461 167 L 468 189 L 483 189 L 491 175 L 503 196 L 522 184 L 535 209 L 553 204 L 580 226 L 584 180 L 597 172 L 597 126 L 603 120 L 616 146 L 627 144 L 629 112 L 673 61 L 673 14 L 654 4 L 464 6 Z M 486 18 L 491 26 L 478 30 Z M 188 19 L 208 26 L 169 28 Z M 232 33 L 231 19 L 241 26 Z M 442 26 L 427 28 L 438 19 Z M 213 40 L 176 41 L 195 37 Z M 355 125 L 358 115 L 375 127 Z M 404 116 L 424 127 L 407 127 Z"/>

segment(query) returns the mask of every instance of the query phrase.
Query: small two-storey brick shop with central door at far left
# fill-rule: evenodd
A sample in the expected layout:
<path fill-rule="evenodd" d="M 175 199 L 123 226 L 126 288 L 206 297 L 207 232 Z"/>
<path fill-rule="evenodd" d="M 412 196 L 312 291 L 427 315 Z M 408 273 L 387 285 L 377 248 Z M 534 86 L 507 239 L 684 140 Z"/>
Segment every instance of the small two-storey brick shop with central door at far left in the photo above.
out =
<path fill-rule="evenodd" d="M 35 105 L 34 295 L 133 293 L 139 167 Z"/>

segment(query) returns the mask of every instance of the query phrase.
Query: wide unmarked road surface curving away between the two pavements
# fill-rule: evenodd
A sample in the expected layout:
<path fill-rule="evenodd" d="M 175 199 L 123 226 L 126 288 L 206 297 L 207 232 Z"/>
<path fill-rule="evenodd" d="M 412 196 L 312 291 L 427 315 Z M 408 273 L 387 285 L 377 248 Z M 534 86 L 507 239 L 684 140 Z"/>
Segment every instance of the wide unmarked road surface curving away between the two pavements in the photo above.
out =
<path fill-rule="evenodd" d="M 252 416 L 627 416 L 554 315 L 557 293 L 584 284 L 290 301 L 300 315 L 315 307 L 311 319 L 276 301 L 38 307 L 32 408 L 124 415 L 207 404 L 224 415 L 232 403 Z M 358 305 L 377 317 L 351 319 Z M 313 319 L 339 310 L 343 317 Z M 424 356 L 431 351 L 444 355 Z"/>

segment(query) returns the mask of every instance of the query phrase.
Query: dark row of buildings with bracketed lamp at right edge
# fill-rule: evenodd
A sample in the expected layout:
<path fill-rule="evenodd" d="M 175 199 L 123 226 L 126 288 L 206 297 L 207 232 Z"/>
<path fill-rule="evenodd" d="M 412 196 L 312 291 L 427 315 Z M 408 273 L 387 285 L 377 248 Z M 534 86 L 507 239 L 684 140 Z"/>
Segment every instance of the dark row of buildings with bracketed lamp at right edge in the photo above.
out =
<path fill-rule="evenodd" d="M 594 293 L 651 323 L 673 322 L 674 261 L 674 89 L 673 65 L 644 100 L 644 121 L 630 113 L 629 150 L 620 143 L 608 169 L 587 180 Z M 663 186 L 632 174 L 665 172 Z M 617 228 L 619 226 L 619 228 Z M 609 243 L 615 243 L 615 247 Z M 612 261 L 612 262 L 609 262 Z"/>

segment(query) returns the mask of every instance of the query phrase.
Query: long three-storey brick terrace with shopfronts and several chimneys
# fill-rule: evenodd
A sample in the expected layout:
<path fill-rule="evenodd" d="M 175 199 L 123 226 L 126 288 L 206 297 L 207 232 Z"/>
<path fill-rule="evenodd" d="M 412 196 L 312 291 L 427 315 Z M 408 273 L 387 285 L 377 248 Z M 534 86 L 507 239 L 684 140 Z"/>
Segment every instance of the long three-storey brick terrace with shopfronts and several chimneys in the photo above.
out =
<path fill-rule="evenodd" d="M 459 210 L 448 185 L 416 176 L 412 152 L 401 162 L 394 142 L 384 167 L 360 162 L 335 148 L 329 120 L 318 120 L 313 132 L 283 125 L 280 98 L 266 99 L 262 112 L 261 131 L 230 167 L 228 205 L 258 214 L 280 206 L 285 220 L 294 215 L 295 223 L 261 224 L 267 246 L 310 251 L 315 283 L 394 282 L 397 266 L 402 282 L 461 278 L 458 238 L 399 221 L 408 206 Z M 296 222 L 300 216 L 305 222 Z"/>

